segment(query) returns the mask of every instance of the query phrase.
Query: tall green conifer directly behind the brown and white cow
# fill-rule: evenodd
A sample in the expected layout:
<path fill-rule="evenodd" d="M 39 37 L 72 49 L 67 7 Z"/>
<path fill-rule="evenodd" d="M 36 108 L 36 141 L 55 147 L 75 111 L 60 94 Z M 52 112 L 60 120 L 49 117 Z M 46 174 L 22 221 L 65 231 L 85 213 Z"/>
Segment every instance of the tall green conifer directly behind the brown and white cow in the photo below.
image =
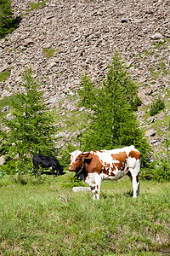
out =
<path fill-rule="evenodd" d="M 86 93 L 87 84 L 84 83 L 87 81 L 92 83 L 89 78 L 83 78 L 79 95 L 89 95 L 88 104 L 83 102 L 82 97 L 80 104 L 93 110 L 93 114 L 87 131 L 82 135 L 83 149 L 111 149 L 133 144 L 146 154 L 149 145 L 143 139 L 144 134 L 139 129 L 135 114 L 140 103 L 138 86 L 130 79 L 120 56 L 113 56 L 106 78 L 96 87 L 91 84 L 90 94 Z"/>

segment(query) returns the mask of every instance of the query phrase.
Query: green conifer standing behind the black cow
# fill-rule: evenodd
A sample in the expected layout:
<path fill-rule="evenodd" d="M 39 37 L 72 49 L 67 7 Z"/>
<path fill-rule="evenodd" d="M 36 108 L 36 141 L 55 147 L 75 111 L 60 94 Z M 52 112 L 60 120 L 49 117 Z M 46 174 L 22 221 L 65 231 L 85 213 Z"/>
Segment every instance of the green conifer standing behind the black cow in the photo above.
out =
<path fill-rule="evenodd" d="M 47 111 L 40 84 L 33 78 L 30 68 L 22 75 L 21 86 L 25 93 L 18 94 L 18 101 L 12 102 L 12 119 L 3 119 L 9 131 L 3 133 L 3 141 L 8 144 L 10 159 L 17 157 L 22 169 L 33 154 L 53 154 L 54 119 Z M 28 155 L 29 154 L 29 155 Z"/>

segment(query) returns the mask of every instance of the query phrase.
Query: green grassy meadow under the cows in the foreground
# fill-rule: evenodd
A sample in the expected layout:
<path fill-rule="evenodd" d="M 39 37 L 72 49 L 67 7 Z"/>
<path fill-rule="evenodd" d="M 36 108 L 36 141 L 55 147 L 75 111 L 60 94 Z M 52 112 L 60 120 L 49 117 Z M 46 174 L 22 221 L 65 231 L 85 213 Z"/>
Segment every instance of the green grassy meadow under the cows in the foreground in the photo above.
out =
<path fill-rule="evenodd" d="M 0 179 L 0 255 L 169 255 L 169 183 L 141 181 L 133 199 L 128 178 L 105 181 L 99 201 L 74 185 L 71 172 Z"/>

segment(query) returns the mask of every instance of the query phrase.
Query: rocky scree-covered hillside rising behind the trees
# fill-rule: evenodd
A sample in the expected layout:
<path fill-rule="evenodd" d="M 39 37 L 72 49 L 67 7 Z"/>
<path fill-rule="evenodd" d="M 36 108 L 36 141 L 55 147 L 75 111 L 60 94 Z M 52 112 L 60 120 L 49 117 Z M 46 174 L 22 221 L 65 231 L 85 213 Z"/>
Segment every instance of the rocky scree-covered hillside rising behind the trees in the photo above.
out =
<path fill-rule="evenodd" d="M 62 143 L 77 136 L 77 90 L 88 71 L 94 83 L 102 79 L 115 49 L 139 84 L 141 127 L 154 151 L 165 151 L 170 135 L 170 2 L 167 0 L 12 1 L 20 26 L 0 40 L 0 99 L 21 90 L 20 74 L 31 66 L 48 108 L 60 125 Z M 1 78 L 1 77 L 0 77 Z M 158 96 L 166 109 L 150 117 L 150 103 Z M 2 109 L 3 113 L 5 108 Z M 75 111 L 74 111 L 75 110 Z M 68 122 L 69 116 L 76 119 Z M 75 124 L 75 125 L 74 125 Z M 72 129 L 72 126 L 75 129 Z"/>

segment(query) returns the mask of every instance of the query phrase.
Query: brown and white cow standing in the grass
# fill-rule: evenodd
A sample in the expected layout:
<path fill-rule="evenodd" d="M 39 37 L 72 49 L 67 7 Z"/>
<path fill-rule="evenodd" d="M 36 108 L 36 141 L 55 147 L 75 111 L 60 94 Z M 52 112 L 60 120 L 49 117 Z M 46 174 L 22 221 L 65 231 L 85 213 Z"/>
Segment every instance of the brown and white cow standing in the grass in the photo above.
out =
<path fill-rule="evenodd" d="M 76 172 L 91 187 L 94 199 L 99 199 L 101 182 L 104 179 L 118 180 L 126 174 L 133 183 L 133 197 L 139 196 L 140 153 L 134 146 L 71 153 L 69 171 Z"/>

